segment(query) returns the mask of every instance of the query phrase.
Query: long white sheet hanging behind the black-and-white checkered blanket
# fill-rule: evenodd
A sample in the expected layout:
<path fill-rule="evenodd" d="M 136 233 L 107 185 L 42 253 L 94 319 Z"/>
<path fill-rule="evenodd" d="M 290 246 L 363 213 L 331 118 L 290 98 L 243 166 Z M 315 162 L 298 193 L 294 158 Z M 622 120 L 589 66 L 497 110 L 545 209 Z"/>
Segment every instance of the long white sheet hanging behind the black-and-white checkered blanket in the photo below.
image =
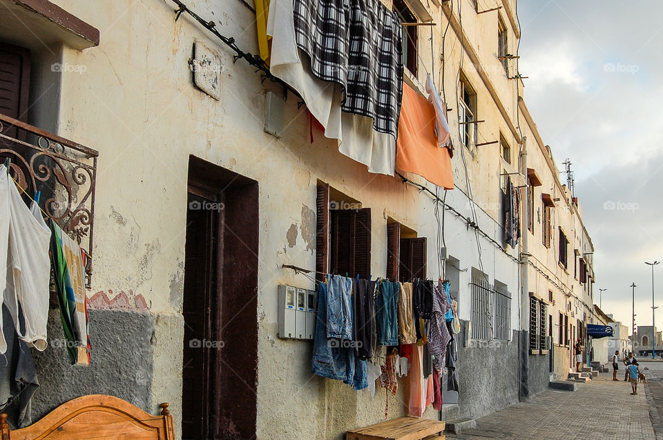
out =
<path fill-rule="evenodd" d="M 271 73 L 298 92 L 325 137 L 338 140 L 338 151 L 369 172 L 393 176 L 396 138 L 374 130 L 372 118 L 341 110 L 343 86 L 311 74 L 310 58 L 296 43 L 293 0 L 270 1 L 267 34 L 272 37 Z"/>

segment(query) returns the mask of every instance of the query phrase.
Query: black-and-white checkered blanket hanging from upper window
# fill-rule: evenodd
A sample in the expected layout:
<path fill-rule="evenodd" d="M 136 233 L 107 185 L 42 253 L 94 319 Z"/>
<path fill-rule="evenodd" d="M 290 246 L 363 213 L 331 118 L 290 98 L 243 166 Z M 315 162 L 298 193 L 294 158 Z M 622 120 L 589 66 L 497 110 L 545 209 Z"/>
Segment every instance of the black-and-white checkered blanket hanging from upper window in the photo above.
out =
<path fill-rule="evenodd" d="M 344 112 L 394 138 L 403 96 L 401 21 L 380 0 L 294 0 L 297 46 L 312 73 L 343 86 Z"/>

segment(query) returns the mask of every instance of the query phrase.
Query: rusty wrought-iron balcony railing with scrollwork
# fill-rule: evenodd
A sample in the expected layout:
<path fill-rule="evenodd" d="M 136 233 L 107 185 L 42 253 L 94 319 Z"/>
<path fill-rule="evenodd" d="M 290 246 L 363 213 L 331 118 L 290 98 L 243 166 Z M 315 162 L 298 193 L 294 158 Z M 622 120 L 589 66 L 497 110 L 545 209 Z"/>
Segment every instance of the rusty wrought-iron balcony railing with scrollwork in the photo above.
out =
<path fill-rule="evenodd" d="M 88 255 L 92 280 L 95 183 L 99 152 L 0 113 L 0 163 L 10 176 Z M 36 197 L 40 192 L 40 197 Z M 28 196 L 23 199 L 28 201 Z"/>

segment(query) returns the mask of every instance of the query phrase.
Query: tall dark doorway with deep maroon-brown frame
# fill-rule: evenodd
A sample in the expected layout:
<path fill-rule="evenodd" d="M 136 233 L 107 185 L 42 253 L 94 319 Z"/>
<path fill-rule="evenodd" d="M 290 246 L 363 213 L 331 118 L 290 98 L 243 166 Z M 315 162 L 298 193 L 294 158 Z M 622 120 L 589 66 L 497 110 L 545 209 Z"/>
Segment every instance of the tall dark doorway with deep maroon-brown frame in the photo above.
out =
<path fill-rule="evenodd" d="M 182 439 L 256 437 L 258 183 L 189 159 Z"/>

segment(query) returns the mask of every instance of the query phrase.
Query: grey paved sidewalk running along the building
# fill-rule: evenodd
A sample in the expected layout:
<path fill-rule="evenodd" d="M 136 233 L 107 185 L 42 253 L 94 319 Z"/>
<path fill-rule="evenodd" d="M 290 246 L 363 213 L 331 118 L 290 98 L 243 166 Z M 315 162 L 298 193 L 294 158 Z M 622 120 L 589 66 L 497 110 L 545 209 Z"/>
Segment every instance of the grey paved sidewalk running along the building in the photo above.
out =
<path fill-rule="evenodd" d="M 643 383 L 636 396 L 630 394 L 630 383 L 613 381 L 612 373 L 577 387 L 574 392 L 547 390 L 482 417 L 477 429 L 448 434 L 447 439 L 656 440 Z"/>

